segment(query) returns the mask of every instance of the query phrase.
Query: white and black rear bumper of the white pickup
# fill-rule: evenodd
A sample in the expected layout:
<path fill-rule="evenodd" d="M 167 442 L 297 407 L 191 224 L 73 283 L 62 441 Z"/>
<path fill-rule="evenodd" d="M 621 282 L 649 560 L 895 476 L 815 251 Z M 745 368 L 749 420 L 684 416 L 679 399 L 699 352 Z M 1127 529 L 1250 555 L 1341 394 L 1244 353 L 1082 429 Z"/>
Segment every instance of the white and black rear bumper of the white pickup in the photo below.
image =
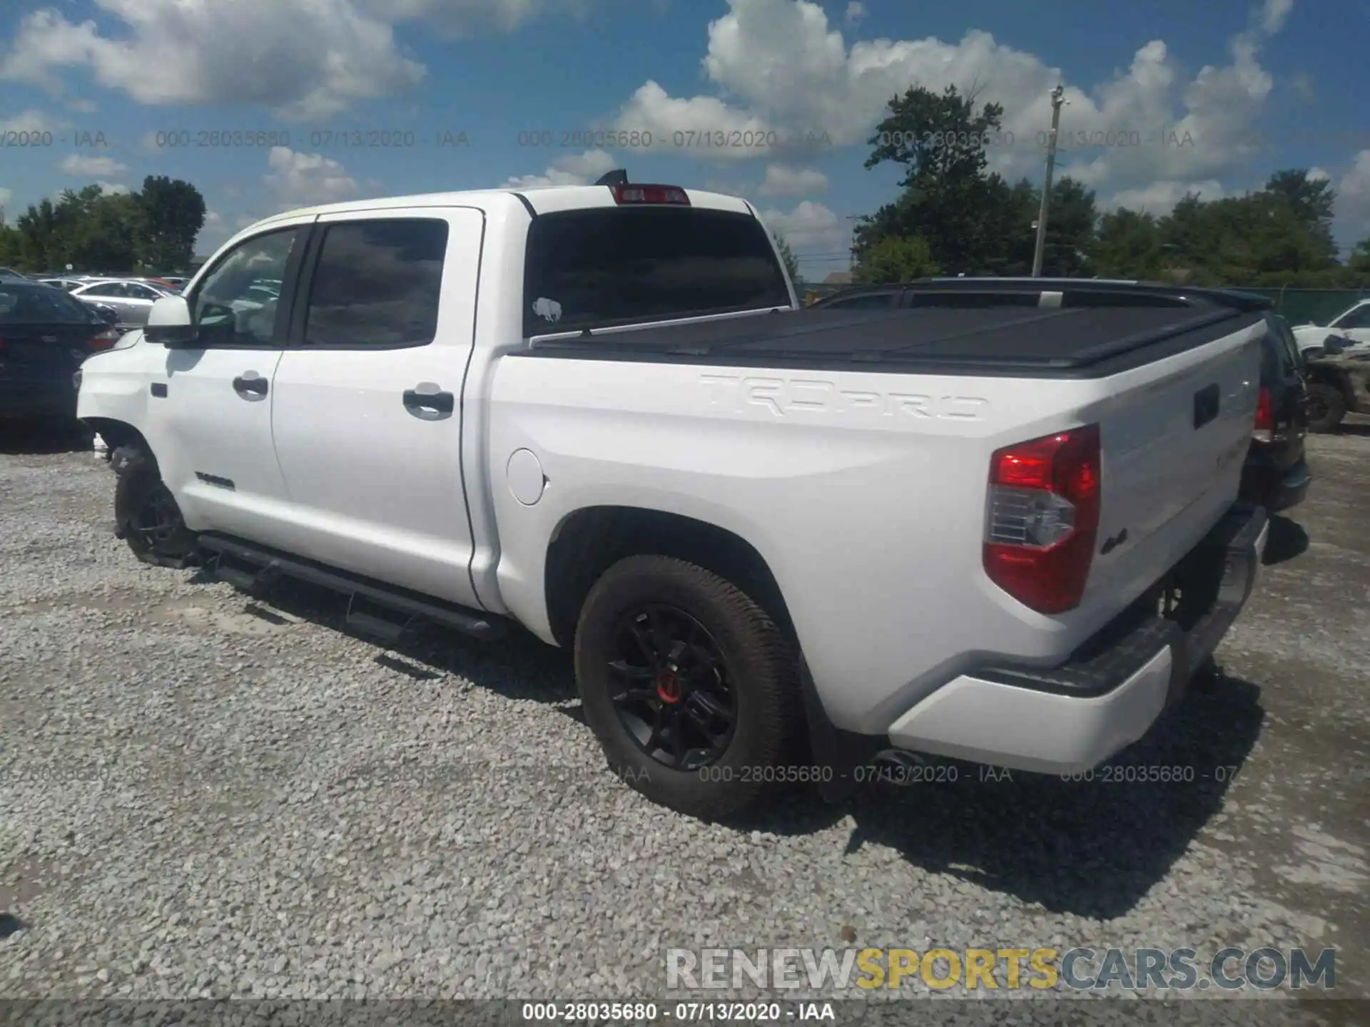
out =
<path fill-rule="evenodd" d="M 1174 702 L 1251 597 L 1270 533 L 1234 507 L 1148 596 L 1058 667 L 982 665 L 889 727 L 900 749 L 1012 770 L 1073 774 L 1141 738 Z M 1164 587 L 1182 585 L 1169 615 Z"/>

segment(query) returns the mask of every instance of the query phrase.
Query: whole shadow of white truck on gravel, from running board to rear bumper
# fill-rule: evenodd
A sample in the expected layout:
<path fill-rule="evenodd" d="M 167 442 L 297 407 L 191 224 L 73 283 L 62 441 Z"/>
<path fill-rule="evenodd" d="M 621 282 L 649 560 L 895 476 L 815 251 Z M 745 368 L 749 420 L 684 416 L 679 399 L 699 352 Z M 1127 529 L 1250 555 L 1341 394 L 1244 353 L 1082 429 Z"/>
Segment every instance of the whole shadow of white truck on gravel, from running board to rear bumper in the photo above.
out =
<path fill-rule="evenodd" d="M 197 572 L 192 581 L 214 578 Z M 584 723 L 570 653 L 525 631 L 489 644 L 430 627 L 384 645 L 347 631 L 345 600 L 312 585 L 281 581 L 266 597 L 269 605 L 242 600 L 263 619 L 279 619 L 273 612 L 279 611 L 366 641 L 375 646 L 378 664 L 415 683 L 452 672 L 507 698 L 556 707 Z M 830 830 L 851 815 L 856 827 L 848 852 L 886 845 L 929 872 L 1052 912 L 1107 920 L 1128 913 L 1163 880 L 1219 812 L 1260 734 L 1259 694 L 1240 678 L 1196 682 L 1145 738 L 1088 781 L 947 761 L 936 764 L 926 783 L 863 785 L 834 805 L 817 790 L 796 789 L 785 801 L 725 826 L 804 835 Z M 585 744 L 595 741 L 586 734 Z M 612 786 L 606 776 L 606 787 Z"/>

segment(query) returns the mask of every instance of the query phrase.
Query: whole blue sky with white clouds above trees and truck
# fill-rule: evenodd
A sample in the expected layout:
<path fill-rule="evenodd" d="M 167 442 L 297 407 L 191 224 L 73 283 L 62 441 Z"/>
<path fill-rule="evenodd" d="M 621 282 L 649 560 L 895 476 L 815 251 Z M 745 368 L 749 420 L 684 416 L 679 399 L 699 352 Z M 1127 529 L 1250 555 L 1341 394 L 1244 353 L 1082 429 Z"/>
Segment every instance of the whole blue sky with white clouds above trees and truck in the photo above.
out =
<path fill-rule="evenodd" d="M 1351 244 L 1370 234 L 1367 40 L 1365 0 L 11 0 L 0 203 L 169 174 L 206 196 L 206 253 L 284 208 L 626 167 L 752 199 L 819 278 L 895 193 L 862 167 L 893 93 L 978 86 L 1006 107 L 995 166 L 1036 179 L 1059 79 L 1063 131 L 1103 144 L 1063 170 L 1103 205 L 1307 167 Z"/>

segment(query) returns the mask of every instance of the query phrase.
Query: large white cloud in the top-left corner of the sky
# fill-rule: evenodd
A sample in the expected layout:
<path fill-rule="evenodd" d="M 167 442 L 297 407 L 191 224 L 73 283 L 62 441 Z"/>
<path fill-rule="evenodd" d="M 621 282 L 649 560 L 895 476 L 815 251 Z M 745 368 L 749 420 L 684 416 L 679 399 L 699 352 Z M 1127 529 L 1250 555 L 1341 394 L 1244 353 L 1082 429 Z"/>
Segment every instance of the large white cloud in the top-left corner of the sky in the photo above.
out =
<path fill-rule="evenodd" d="M 62 73 L 142 104 L 264 104 L 318 119 L 404 93 L 426 75 L 395 38 L 422 21 L 444 34 L 512 30 L 593 0 L 93 0 L 108 27 L 53 7 L 22 19 L 0 78 L 63 89 Z M 232 41 L 225 45 L 225 40 Z"/>

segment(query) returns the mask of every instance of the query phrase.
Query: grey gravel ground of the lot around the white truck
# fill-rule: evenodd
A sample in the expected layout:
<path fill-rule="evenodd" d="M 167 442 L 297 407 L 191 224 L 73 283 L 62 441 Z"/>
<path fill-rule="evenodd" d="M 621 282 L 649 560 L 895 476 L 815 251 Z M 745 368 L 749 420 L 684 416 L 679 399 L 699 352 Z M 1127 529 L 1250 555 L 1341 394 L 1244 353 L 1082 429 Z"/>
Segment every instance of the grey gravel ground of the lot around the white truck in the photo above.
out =
<path fill-rule="evenodd" d="M 1119 760 L 1193 782 L 962 768 L 711 826 L 603 768 L 563 653 L 386 652 L 332 597 L 142 567 L 103 464 L 11 440 L 0 994 L 641 1000 L 674 946 L 1307 945 L 1370 996 L 1370 427 L 1310 459 L 1228 676 Z"/>

